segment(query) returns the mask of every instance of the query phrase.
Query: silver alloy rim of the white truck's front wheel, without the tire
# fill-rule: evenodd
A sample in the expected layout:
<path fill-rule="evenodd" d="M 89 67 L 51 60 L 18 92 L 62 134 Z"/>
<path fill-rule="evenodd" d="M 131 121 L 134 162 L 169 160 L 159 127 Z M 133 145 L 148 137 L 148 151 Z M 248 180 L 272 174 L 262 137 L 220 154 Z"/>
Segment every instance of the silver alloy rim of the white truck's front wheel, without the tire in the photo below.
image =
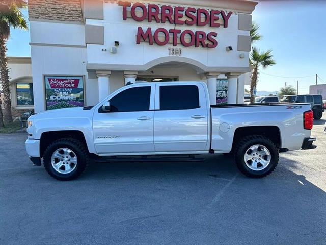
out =
<path fill-rule="evenodd" d="M 51 156 L 52 167 L 60 174 L 69 174 L 77 166 L 77 156 L 69 148 L 59 148 Z"/>

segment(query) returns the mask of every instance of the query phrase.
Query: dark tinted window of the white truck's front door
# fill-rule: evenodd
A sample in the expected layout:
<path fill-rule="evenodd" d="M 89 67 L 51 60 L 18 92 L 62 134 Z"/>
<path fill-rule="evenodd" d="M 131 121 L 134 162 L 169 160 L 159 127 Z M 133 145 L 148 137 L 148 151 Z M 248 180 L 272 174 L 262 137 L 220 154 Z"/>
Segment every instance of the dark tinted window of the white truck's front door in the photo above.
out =
<path fill-rule="evenodd" d="M 151 87 L 129 88 L 110 100 L 111 112 L 148 111 Z"/>

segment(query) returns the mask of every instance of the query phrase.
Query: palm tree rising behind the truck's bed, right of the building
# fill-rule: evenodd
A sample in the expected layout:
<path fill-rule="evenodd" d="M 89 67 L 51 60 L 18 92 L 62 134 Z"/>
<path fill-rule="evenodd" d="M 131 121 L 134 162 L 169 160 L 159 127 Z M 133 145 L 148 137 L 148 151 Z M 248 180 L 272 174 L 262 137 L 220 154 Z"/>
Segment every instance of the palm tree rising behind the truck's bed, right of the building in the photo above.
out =
<path fill-rule="evenodd" d="M 250 81 L 250 101 L 254 103 L 254 89 L 257 87 L 257 81 L 259 76 L 259 68 L 263 69 L 268 66 L 275 65 L 276 62 L 273 60 L 273 55 L 271 54 L 271 50 L 267 50 L 266 52 L 261 52 L 256 47 L 252 48 L 252 52 L 250 54 L 250 63 L 253 65 L 253 73 L 251 75 Z"/>

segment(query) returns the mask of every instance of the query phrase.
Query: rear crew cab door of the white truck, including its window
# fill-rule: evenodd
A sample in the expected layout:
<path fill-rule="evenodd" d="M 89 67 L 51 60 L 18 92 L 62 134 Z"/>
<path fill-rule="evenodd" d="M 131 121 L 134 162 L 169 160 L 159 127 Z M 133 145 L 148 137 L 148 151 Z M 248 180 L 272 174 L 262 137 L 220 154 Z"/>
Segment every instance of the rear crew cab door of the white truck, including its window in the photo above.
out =
<path fill-rule="evenodd" d="M 154 146 L 156 152 L 207 150 L 208 110 L 201 84 L 157 84 Z"/>

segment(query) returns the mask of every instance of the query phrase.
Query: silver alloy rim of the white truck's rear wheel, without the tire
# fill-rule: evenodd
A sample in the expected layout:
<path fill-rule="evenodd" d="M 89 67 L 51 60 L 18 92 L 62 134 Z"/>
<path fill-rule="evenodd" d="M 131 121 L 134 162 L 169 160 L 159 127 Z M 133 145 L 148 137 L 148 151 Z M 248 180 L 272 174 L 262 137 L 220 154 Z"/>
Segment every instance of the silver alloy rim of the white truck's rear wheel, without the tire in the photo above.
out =
<path fill-rule="evenodd" d="M 254 171 L 265 169 L 269 165 L 270 159 L 269 150 L 261 144 L 250 146 L 244 154 L 244 162 Z"/>

